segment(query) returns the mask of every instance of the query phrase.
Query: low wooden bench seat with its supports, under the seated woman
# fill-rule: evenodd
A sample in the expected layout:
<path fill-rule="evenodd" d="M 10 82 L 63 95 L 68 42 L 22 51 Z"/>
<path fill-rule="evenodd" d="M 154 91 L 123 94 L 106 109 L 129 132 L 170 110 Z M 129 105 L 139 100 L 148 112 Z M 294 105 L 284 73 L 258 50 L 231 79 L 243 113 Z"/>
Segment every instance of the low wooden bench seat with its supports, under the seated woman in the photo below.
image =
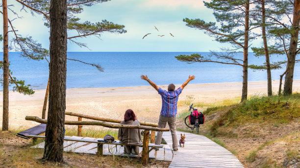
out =
<path fill-rule="evenodd" d="M 26 137 L 29 138 L 46 138 L 46 136 L 42 135 L 27 135 Z M 107 143 L 107 142 L 99 142 L 98 140 L 89 140 L 89 139 L 75 139 L 71 137 L 65 137 L 64 141 L 75 141 L 75 142 L 86 142 L 86 143 L 95 143 L 98 144 L 97 147 L 97 154 L 102 155 L 103 154 L 103 145 L 109 144 L 109 145 L 116 145 L 116 146 L 129 146 L 128 144 L 122 144 L 119 141 L 113 142 L 113 143 Z M 143 144 L 130 144 L 130 146 L 138 146 L 143 147 Z M 163 145 L 155 145 L 155 144 L 149 144 L 148 147 L 150 147 L 150 150 L 148 150 L 148 159 L 149 159 L 149 152 L 154 149 L 155 147 L 162 148 Z"/>

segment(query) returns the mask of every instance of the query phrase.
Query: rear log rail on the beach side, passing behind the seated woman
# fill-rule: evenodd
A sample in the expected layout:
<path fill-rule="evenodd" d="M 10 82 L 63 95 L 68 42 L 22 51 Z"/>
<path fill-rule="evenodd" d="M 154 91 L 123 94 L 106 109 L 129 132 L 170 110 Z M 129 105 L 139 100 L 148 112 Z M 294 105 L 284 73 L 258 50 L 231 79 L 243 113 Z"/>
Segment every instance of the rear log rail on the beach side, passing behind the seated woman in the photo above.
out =
<path fill-rule="evenodd" d="M 109 118 L 103 118 L 103 117 L 95 117 L 95 116 L 90 116 L 86 114 L 79 114 L 79 113 L 74 113 L 74 112 L 66 112 L 66 115 L 69 116 L 76 116 L 76 117 L 81 117 L 81 118 L 86 118 L 86 119 L 91 119 L 91 120 L 97 120 L 97 121 L 104 121 L 104 122 L 109 122 L 109 123 L 121 123 L 122 120 L 118 119 L 109 119 Z M 156 123 L 150 123 L 150 122 L 143 122 L 140 121 L 141 126 L 154 126 L 158 127 L 158 124 Z"/>

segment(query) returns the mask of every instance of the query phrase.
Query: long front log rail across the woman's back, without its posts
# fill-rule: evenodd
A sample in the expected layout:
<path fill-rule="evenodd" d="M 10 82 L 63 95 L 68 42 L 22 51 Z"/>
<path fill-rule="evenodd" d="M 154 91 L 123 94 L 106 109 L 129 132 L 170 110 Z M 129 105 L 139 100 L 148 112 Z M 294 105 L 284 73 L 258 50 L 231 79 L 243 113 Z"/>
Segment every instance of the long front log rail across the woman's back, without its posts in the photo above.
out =
<path fill-rule="evenodd" d="M 35 121 L 41 124 L 47 124 L 47 120 L 41 119 L 36 116 L 26 116 L 25 120 Z M 106 122 L 99 121 L 65 121 L 65 125 L 81 125 L 81 126 L 104 126 L 109 128 L 130 128 L 130 129 L 145 129 L 151 131 L 169 131 L 168 128 L 158 128 L 152 126 L 132 126 L 132 125 L 122 125 L 122 124 L 110 124 Z"/>

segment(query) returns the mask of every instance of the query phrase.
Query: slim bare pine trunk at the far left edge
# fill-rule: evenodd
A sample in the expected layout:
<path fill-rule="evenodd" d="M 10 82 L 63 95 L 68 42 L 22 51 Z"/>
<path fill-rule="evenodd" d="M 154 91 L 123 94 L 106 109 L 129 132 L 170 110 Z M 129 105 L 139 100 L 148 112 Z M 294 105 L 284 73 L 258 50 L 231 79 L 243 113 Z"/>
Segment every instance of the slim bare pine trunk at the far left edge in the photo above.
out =
<path fill-rule="evenodd" d="M 2 130 L 8 130 L 9 62 L 7 0 L 2 0 L 3 12 L 3 118 Z"/>

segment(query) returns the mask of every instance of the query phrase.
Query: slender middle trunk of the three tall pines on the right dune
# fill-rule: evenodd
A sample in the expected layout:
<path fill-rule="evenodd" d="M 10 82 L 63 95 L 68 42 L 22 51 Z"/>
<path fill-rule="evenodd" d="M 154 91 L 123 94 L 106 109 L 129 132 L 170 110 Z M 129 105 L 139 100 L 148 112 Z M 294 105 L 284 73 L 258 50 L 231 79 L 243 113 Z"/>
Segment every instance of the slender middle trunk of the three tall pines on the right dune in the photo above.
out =
<path fill-rule="evenodd" d="M 270 66 L 270 56 L 266 37 L 266 10 L 265 10 L 265 0 L 261 0 L 261 11 L 262 11 L 262 38 L 264 41 L 265 56 L 266 56 L 266 66 L 267 66 L 267 80 L 268 80 L 268 96 L 272 96 L 272 76 L 271 76 L 271 66 Z"/>

